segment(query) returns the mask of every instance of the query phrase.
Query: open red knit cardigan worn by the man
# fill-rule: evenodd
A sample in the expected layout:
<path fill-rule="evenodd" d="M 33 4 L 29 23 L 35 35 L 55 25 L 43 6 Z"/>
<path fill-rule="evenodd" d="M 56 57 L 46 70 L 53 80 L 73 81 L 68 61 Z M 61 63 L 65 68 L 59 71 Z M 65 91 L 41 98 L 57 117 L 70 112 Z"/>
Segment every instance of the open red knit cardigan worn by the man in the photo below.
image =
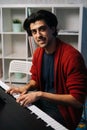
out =
<path fill-rule="evenodd" d="M 32 77 L 41 85 L 41 65 L 44 49 L 37 48 L 33 56 L 31 67 Z M 57 39 L 57 48 L 54 56 L 54 88 L 58 94 L 71 94 L 79 102 L 84 103 L 87 87 L 86 67 L 81 54 L 69 44 Z M 79 123 L 82 109 L 72 106 L 58 105 L 69 130 L 74 130 Z"/>

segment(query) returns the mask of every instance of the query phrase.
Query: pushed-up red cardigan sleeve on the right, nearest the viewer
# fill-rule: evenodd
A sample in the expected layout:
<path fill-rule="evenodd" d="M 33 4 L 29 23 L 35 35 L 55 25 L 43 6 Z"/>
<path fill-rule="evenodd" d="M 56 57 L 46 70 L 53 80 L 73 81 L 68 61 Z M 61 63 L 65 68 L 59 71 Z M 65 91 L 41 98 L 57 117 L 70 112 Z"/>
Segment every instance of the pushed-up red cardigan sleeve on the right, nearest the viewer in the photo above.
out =
<path fill-rule="evenodd" d="M 67 75 L 66 87 L 70 94 L 83 103 L 87 94 L 87 69 L 79 52 L 71 51 L 71 55 L 65 60 L 64 72 Z"/>

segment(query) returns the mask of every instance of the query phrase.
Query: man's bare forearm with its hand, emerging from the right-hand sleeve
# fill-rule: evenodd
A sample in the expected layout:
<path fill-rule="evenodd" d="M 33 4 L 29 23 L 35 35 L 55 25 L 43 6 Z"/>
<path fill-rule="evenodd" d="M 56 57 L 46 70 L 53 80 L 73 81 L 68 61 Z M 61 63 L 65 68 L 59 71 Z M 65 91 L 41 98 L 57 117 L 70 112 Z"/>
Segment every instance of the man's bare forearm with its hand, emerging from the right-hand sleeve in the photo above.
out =
<path fill-rule="evenodd" d="M 39 99 L 50 100 L 56 104 L 61 104 L 66 106 L 71 105 L 75 108 L 82 107 L 82 104 L 70 94 L 52 94 L 52 93 L 47 93 L 42 91 L 36 91 L 36 92 L 32 91 L 30 93 L 23 94 L 17 99 L 17 102 L 19 102 L 23 106 L 26 106 L 28 104 L 34 103 Z"/>

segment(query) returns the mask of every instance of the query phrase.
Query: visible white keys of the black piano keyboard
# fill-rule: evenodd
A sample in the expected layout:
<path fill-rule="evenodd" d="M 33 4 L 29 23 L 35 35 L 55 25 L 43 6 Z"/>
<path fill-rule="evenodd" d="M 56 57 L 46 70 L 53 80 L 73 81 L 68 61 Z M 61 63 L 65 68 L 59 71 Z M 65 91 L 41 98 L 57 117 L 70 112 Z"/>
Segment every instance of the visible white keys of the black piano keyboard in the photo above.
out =
<path fill-rule="evenodd" d="M 1 80 L 0 80 L 0 86 L 5 90 L 9 89 L 9 86 L 3 83 Z M 13 95 L 13 96 L 14 98 L 18 98 L 19 95 Z M 46 123 L 46 127 L 50 126 L 54 130 L 68 130 L 67 128 L 62 126 L 60 123 L 58 123 L 55 119 L 51 118 L 45 112 L 43 112 L 38 107 L 36 107 L 35 105 L 29 105 L 27 106 L 27 108 L 31 110 L 31 114 L 34 113 L 37 116 L 37 119 L 43 120 Z"/>

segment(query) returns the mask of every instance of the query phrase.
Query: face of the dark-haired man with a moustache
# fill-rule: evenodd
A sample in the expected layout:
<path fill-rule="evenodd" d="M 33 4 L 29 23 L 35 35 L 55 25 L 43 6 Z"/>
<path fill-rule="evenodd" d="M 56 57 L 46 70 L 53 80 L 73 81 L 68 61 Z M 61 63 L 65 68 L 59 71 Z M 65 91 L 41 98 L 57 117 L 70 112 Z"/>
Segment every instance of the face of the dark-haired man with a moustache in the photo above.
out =
<path fill-rule="evenodd" d="M 50 28 L 44 20 L 38 20 L 30 24 L 30 30 L 35 43 L 39 47 L 45 48 L 51 44 L 53 39 L 54 29 Z"/>

